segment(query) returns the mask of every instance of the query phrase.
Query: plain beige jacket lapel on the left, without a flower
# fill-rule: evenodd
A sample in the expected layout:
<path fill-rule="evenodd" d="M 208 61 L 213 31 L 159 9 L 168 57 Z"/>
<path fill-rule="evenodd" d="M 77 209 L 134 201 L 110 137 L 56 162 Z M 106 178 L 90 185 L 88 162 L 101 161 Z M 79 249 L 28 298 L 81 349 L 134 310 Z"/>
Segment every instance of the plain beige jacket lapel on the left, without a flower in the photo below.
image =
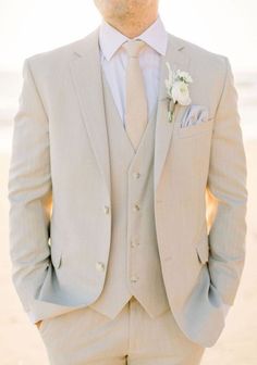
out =
<path fill-rule="evenodd" d="M 110 196 L 110 160 L 98 47 L 99 27 L 78 43 L 71 62 L 83 122 Z"/>

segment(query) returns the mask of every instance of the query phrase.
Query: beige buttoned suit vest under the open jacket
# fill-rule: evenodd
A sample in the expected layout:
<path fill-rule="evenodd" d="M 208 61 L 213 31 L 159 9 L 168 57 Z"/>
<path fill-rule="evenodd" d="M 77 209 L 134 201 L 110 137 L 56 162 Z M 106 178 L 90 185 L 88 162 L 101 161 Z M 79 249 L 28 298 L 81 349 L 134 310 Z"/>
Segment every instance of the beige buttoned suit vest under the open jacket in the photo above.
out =
<path fill-rule="evenodd" d="M 89 306 L 114 318 L 134 295 L 154 318 L 169 309 L 154 212 L 157 108 L 135 151 L 103 72 L 102 87 L 110 151 L 112 228 L 105 286 Z"/>

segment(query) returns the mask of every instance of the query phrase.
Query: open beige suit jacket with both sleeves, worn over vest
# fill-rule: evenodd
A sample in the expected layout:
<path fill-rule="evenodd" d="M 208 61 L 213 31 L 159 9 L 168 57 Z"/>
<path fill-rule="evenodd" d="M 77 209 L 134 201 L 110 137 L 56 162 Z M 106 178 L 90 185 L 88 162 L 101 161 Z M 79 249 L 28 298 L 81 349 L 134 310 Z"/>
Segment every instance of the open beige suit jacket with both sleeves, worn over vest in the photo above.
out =
<path fill-rule="evenodd" d="M 9 175 L 12 277 L 35 320 L 93 303 L 111 241 L 110 161 L 97 28 L 24 64 Z M 168 121 L 166 62 L 187 71 L 204 123 Z M 155 137 L 155 217 L 169 303 L 181 329 L 212 345 L 245 261 L 246 163 L 227 58 L 169 35 Z M 49 244 L 50 243 L 50 244 Z M 139 268 L 138 268 L 139 269 Z M 113 298 L 115 300 L 115 298 Z"/>

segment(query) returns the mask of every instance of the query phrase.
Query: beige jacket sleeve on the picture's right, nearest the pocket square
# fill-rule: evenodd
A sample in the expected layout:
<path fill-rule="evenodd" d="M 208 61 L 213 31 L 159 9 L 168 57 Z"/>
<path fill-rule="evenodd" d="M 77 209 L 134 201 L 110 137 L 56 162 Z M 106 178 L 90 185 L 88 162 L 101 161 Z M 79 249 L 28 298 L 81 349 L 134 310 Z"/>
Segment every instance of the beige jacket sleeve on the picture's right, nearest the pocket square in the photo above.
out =
<path fill-rule="evenodd" d="M 230 62 L 217 108 L 211 142 L 207 196 L 212 224 L 209 230 L 209 273 L 225 304 L 232 305 L 245 262 L 246 159 L 237 92 Z"/>

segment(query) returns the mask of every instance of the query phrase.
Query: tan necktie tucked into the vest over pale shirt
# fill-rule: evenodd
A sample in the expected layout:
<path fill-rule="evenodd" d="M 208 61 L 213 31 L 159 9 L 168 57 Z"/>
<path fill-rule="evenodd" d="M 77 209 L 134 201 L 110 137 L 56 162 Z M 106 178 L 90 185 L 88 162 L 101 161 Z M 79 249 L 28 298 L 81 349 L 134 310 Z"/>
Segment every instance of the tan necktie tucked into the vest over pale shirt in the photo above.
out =
<path fill-rule="evenodd" d="M 147 99 L 143 73 L 139 65 L 139 51 L 146 43 L 133 39 L 122 45 L 126 50 L 125 127 L 135 150 L 147 125 Z"/>

